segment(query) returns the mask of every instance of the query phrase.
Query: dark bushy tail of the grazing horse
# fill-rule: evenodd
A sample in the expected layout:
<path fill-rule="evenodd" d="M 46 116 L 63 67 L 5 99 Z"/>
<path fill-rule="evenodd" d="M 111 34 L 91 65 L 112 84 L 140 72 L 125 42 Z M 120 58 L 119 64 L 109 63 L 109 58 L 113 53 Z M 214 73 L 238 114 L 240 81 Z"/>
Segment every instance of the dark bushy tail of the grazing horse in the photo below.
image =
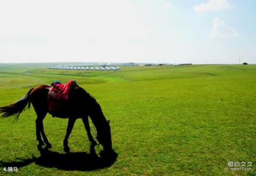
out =
<path fill-rule="evenodd" d="M 2 114 L 2 117 L 6 118 L 6 117 L 14 116 L 15 117 L 14 120 L 17 121 L 22 111 L 26 110 L 27 105 L 28 105 L 28 108 L 30 108 L 29 95 L 33 89 L 34 87 L 30 89 L 28 93 L 24 95 L 19 101 L 13 103 L 12 105 L 0 107 L 0 114 Z"/>

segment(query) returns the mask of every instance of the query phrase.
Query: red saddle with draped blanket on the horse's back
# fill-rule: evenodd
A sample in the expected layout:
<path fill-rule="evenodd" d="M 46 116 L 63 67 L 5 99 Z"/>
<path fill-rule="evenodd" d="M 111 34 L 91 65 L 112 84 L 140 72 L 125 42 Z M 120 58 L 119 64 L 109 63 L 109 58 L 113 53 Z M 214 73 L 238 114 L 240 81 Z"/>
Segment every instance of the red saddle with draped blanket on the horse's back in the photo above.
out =
<path fill-rule="evenodd" d="M 78 84 L 75 80 L 70 80 L 66 84 L 61 84 L 60 82 L 53 82 L 49 89 L 47 96 L 48 110 L 51 114 L 56 116 L 60 114 L 63 106 L 68 106 L 74 99 L 74 93 L 78 89 Z"/>

